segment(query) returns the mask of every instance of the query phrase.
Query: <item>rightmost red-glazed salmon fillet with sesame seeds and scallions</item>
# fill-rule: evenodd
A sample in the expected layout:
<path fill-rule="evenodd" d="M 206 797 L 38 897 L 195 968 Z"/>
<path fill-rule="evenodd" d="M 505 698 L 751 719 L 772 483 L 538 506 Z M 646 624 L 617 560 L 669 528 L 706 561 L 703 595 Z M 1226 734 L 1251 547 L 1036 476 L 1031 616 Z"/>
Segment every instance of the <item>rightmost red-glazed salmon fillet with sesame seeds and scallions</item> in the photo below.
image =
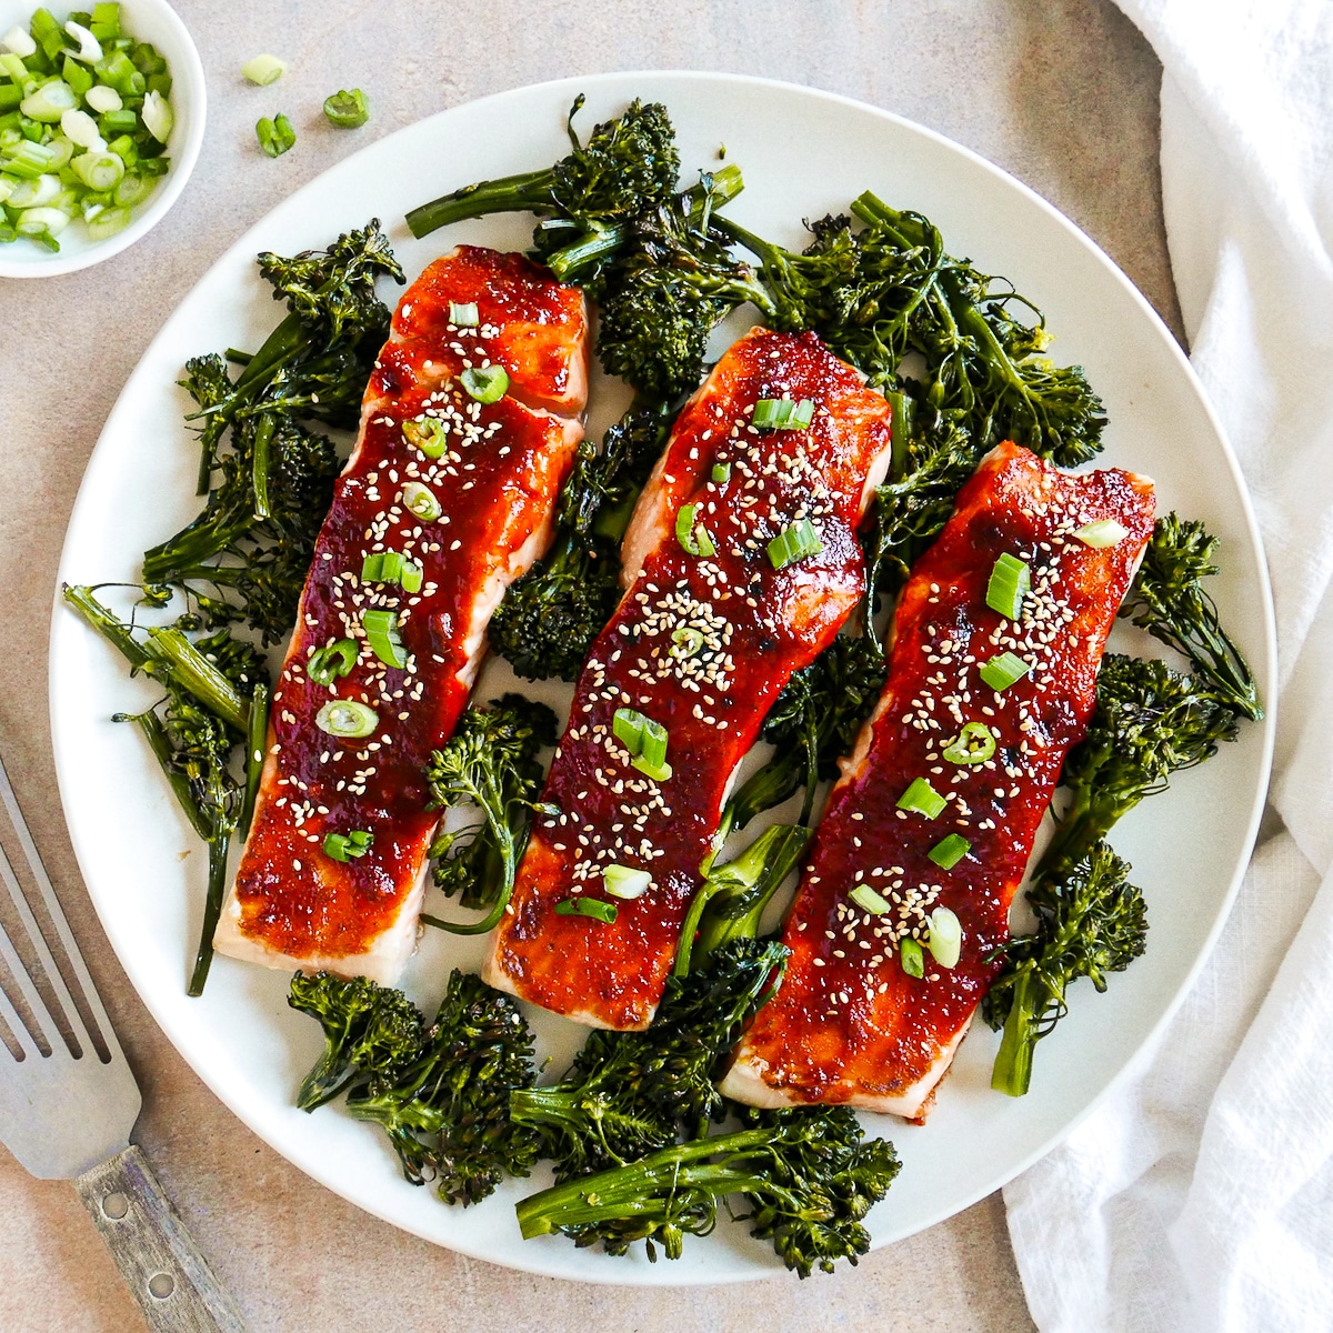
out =
<path fill-rule="evenodd" d="M 1113 545 L 1076 536 L 1102 520 L 1120 525 Z M 1070 476 L 1013 444 L 982 460 L 904 589 L 884 693 L 786 920 L 786 976 L 741 1038 L 726 1096 L 924 1117 L 1000 968 L 988 960 L 1009 938 L 1009 904 L 1152 531 L 1142 477 Z M 1005 556 L 1029 571 L 1017 619 L 988 605 Z M 996 689 L 980 672 L 1004 653 L 1030 669 Z M 913 784 L 929 788 L 913 800 Z M 864 886 L 878 904 L 862 905 Z M 922 950 L 924 976 L 909 976 L 900 941 L 924 940 L 936 908 L 958 917 L 961 957 L 950 969 Z"/>

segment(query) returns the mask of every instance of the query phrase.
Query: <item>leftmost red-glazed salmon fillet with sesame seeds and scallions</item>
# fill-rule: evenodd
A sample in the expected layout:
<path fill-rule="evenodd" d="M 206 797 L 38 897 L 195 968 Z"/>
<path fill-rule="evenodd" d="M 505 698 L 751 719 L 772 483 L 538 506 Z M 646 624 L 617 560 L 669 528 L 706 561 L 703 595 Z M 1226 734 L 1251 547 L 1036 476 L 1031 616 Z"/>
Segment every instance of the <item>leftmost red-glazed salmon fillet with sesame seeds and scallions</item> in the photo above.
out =
<path fill-rule="evenodd" d="M 480 401 L 467 384 L 492 396 L 495 367 L 508 387 Z M 583 296 L 521 256 L 460 247 L 404 293 L 273 689 L 221 953 L 397 980 L 439 821 L 425 765 L 505 588 L 549 544 L 587 385 Z"/>

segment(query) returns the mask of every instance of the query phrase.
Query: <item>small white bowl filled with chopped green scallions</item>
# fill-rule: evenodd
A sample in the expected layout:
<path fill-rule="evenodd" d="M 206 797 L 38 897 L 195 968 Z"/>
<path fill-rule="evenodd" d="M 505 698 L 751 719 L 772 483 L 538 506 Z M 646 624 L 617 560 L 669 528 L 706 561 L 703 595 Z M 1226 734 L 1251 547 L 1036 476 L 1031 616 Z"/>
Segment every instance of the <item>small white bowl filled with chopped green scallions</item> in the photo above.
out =
<path fill-rule="evenodd" d="M 0 0 L 0 277 L 71 273 L 139 240 L 189 177 L 204 105 L 164 0 Z"/>

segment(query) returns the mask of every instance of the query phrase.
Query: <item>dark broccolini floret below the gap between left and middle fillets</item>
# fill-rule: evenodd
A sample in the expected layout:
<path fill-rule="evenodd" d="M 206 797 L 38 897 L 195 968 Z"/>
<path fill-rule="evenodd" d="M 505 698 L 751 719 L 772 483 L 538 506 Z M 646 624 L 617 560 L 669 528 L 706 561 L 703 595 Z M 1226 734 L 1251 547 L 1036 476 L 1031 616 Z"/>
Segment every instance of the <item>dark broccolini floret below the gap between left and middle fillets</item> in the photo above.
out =
<path fill-rule="evenodd" d="M 480 1202 L 504 1176 L 527 1176 L 539 1134 L 509 1117 L 529 1088 L 532 1032 L 519 1006 L 479 977 L 455 970 L 440 1010 L 409 1064 L 367 1069 L 347 1109 L 389 1136 L 413 1185 L 433 1181 L 447 1204 Z"/>

